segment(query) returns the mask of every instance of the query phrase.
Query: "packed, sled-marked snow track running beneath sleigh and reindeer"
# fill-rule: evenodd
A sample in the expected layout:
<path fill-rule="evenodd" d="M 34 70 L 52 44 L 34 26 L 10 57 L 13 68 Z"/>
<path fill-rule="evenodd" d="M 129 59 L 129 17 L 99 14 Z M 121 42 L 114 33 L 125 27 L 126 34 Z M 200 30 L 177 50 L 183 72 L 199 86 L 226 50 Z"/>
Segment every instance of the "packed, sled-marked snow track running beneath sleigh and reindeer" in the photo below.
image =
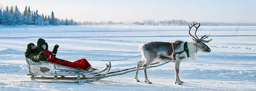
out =
<path fill-rule="evenodd" d="M 10 74 L 10 73 L 1 73 L 0 78 L 2 79 L 0 83 L 2 86 L 8 86 L 10 84 L 27 84 L 26 82 L 19 82 L 22 80 L 29 80 L 30 77 L 27 74 Z M 153 78 L 151 77 L 150 81 L 152 84 L 145 83 L 143 77 L 139 79 L 140 82 L 137 82 L 133 77 L 109 77 L 104 78 L 91 83 L 81 83 L 81 84 L 99 84 L 99 85 L 113 85 L 116 87 L 135 87 L 133 89 L 152 88 L 155 89 L 164 87 L 165 89 L 174 89 L 174 90 L 256 90 L 256 80 L 242 80 L 242 79 L 181 79 L 184 83 L 182 85 L 175 84 L 175 80 L 166 77 L 163 78 Z M 9 84 L 10 83 L 10 84 Z M 28 83 L 30 84 L 30 83 Z M 44 84 L 44 83 L 42 83 Z M 69 83 L 65 83 L 69 84 Z"/>

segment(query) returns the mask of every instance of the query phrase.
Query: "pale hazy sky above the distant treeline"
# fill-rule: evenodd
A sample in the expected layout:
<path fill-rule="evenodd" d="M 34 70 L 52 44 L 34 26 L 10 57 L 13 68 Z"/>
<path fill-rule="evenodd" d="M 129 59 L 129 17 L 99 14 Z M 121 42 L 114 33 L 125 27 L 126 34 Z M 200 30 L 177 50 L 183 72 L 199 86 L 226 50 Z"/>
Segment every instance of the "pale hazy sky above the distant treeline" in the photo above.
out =
<path fill-rule="evenodd" d="M 74 21 L 142 22 L 143 20 L 185 20 L 198 22 L 256 22 L 256 1 L 252 0 L 2 0 L 6 6 L 17 6 L 20 12 L 30 6 L 39 14 Z"/>

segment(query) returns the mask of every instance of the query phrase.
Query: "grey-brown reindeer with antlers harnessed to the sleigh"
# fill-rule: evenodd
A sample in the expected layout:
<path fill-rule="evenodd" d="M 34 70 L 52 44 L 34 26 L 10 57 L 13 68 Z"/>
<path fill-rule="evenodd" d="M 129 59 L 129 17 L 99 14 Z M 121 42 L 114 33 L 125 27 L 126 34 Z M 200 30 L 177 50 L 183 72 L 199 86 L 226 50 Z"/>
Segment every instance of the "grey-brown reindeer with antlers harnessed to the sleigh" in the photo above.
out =
<path fill-rule="evenodd" d="M 198 24 L 198 23 L 196 23 Z M 147 42 L 145 44 L 142 44 L 139 46 L 139 50 L 141 50 L 141 60 L 140 62 L 137 63 L 137 69 L 140 68 L 140 66 L 142 66 L 142 68 L 145 68 L 147 66 L 149 66 L 152 62 L 160 62 L 160 63 L 165 63 L 168 62 L 169 60 L 175 60 L 175 72 L 176 72 L 176 82 L 175 84 L 182 84 L 183 82 L 180 81 L 179 79 L 179 66 L 181 62 L 184 62 L 185 60 L 188 61 L 188 57 L 190 57 L 190 59 L 196 63 L 197 62 L 197 52 L 201 51 L 201 52 L 210 52 L 210 48 L 204 44 L 204 43 L 208 43 L 210 40 L 205 41 L 205 38 L 208 38 L 209 36 L 204 35 L 203 37 L 201 37 L 201 39 L 199 39 L 196 35 L 197 33 L 197 29 L 200 26 L 200 23 L 198 26 L 193 22 L 193 25 L 191 24 L 191 26 L 188 25 L 189 27 L 189 35 L 191 37 L 193 37 L 193 41 L 192 42 L 183 42 L 183 41 L 175 41 L 175 43 L 169 43 L 169 42 Z M 195 31 L 195 36 L 192 36 L 190 34 L 190 29 L 192 27 L 196 27 L 196 31 Z M 176 46 L 175 46 L 176 45 Z M 186 47 L 187 46 L 187 47 Z M 186 47 L 186 48 L 184 48 Z M 170 55 L 170 53 L 168 54 L 169 50 L 173 49 L 173 53 Z M 176 53 L 175 53 L 176 52 Z M 177 54 L 177 55 L 176 55 Z M 150 80 L 148 80 L 147 75 L 146 75 L 146 69 L 143 70 L 144 71 L 144 77 L 145 77 L 145 82 L 146 83 L 152 83 L 150 82 Z M 134 79 L 139 82 L 138 80 L 138 72 L 136 71 L 135 73 L 135 77 Z"/>

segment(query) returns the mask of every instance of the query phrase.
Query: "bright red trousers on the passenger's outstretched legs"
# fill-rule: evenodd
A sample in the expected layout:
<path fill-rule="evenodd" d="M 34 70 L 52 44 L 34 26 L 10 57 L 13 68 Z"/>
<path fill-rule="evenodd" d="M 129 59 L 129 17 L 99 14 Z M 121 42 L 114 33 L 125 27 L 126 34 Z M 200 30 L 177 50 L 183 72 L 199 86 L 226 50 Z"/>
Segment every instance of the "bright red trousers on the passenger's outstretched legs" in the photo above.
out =
<path fill-rule="evenodd" d="M 48 58 L 47 61 L 51 62 L 51 63 L 59 64 L 59 65 L 62 65 L 62 66 L 75 68 L 75 69 L 79 68 L 79 69 L 84 70 L 84 71 L 88 71 L 92 67 L 90 65 L 90 63 L 85 58 L 76 60 L 75 62 L 72 62 L 72 63 L 68 62 L 68 60 L 61 63 L 61 62 L 59 62 L 59 60 L 55 60 L 54 58 Z"/>

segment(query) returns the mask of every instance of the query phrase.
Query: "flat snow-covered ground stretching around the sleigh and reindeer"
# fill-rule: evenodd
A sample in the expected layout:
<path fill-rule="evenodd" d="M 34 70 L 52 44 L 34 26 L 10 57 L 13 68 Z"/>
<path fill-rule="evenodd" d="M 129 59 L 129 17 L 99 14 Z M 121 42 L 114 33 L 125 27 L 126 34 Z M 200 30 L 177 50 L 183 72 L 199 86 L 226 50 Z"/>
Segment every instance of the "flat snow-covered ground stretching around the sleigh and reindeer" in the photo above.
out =
<path fill-rule="evenodd" d="M 129 29 L 130 28 L 130 29 Z M 132 28 L 132 29 L 131 29 Z M 91 83 L 36 83 L 29 81 L 25 50 L 28 43 L 43 38 L 57 57 L 74 61 L 86 58 L 94 68 L 111 61 L 111 71 L 135 67 L 139 45 L 151 42 L 192 41 L 188 26 L 98 25 L 98 26 L 0 26 L 0 90 L 256 90 L 256 26 L 200 26 L 198 36 L 210 34 L 210 53 L 198 52 L 198 62 L 180 65 L 182 85 L 175 84 L 174 63 L 147 69 L 139 80 L 135 72 Z M 194 34 L 191 31 L 191 34 Z"/>

